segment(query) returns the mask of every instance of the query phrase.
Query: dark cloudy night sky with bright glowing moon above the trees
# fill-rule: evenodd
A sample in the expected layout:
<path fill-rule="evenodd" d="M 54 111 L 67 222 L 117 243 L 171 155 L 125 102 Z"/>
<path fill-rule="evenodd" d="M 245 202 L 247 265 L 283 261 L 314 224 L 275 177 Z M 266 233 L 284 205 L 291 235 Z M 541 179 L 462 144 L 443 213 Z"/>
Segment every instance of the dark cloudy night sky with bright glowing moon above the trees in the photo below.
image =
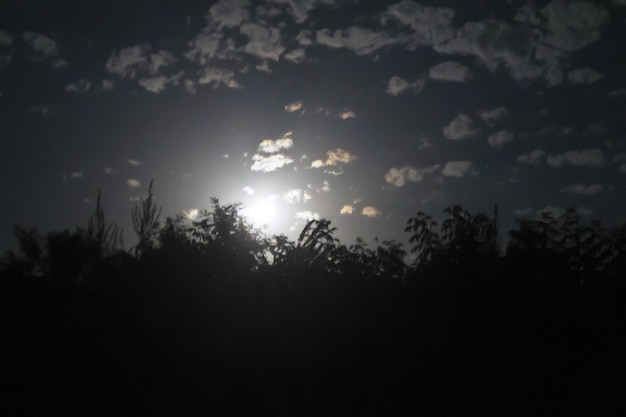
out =
<path fill-rule="evenodd" d="M 210 197 L 295 237 L 626 220 L 626 1 L 0 0 L 0 246 Z"/>

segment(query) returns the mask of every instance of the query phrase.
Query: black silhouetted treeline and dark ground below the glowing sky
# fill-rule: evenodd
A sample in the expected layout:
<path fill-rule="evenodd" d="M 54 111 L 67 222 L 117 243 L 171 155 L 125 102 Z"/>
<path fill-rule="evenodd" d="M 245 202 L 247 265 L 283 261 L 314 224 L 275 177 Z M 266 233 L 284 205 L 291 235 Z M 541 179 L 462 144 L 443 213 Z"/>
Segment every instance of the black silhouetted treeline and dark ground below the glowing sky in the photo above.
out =
<path fill-rule="evenodd" d="M 424 213 L 396 241 L 296 241 L 237 204 L 123 249 L 100 198 L 85 228 L 16 228 L 0 272 L 2 415 L 626 415 L 626 225 L 575 209 Z"/>

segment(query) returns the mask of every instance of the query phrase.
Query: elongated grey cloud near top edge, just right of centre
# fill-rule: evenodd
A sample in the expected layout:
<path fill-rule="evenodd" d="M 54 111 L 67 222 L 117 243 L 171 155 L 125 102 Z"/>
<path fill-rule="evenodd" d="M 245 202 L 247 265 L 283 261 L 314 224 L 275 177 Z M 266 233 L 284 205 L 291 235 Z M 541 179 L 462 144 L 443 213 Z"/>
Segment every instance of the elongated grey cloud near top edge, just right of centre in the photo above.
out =
<path fill-rule="evenodd" d="M 329 48 L 346 48 L 357 55 L 369 55 L 380 48 L 400 43 L 403 40 L 399 37 L 390 37 L 383 32 L 352 26 L 335 32 L 328 29 L 318 30 L 316 41 Z"/>

